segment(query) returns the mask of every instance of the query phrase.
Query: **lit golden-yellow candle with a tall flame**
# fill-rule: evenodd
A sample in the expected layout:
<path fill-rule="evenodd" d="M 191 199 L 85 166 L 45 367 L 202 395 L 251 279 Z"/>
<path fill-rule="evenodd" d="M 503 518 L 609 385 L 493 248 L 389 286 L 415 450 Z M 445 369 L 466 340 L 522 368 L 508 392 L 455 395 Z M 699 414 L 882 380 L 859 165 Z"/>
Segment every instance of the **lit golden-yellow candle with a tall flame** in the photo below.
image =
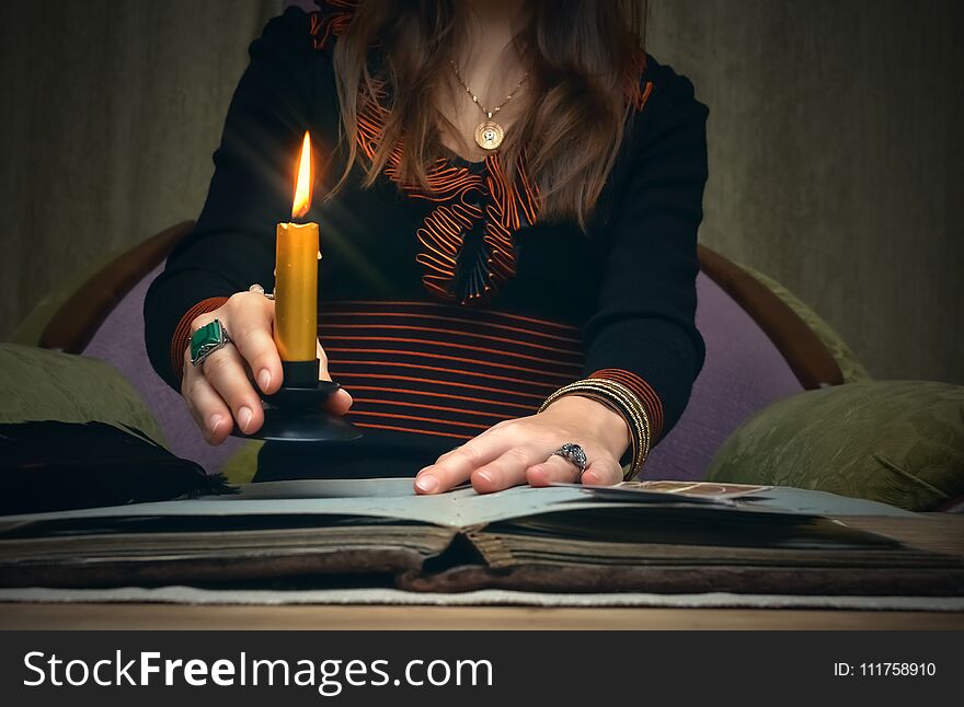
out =
<path fill-rule="evenodd" d="M 305 134 L 291 220 L 302 218 L 311 208 L 311 139 Z M 278 223 L 275 259 L 275 345 L 286 363 L 314 363 L 318 338 L 318 223 Z M 306 375 L 287 380 L 296 371 L 310 367 L 286 366 L 287 385 L 311 385 L 318 382 L 317 366 L 313 382 Z"/>

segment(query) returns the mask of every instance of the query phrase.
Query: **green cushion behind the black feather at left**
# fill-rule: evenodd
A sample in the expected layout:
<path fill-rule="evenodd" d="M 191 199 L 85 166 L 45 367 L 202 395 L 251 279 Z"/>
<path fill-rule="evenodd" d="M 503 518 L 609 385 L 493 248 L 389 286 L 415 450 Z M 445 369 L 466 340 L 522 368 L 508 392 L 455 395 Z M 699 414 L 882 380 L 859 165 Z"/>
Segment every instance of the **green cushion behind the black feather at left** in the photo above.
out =
<path fill-rule="evenodd" d="M 126 425 L 164 443 L 140 395 L 110 363 L 0 344 L 0 422 L 34 420 Z"/>

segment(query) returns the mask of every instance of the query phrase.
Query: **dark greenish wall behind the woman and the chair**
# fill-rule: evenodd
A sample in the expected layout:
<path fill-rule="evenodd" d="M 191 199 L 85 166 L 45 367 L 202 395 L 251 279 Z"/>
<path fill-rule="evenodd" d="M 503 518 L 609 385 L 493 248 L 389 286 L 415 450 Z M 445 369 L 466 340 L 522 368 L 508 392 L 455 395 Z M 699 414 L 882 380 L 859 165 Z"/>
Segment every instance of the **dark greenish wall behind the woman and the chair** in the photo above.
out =
<path fill-rule="evenodd" d="M 0 337 L 200 208 L 274 0 L 0 4 Z M 964 3 L 651 0 L 711 108 L 701 239 L 781 280 L 877 378 L 964 383 Z"/>

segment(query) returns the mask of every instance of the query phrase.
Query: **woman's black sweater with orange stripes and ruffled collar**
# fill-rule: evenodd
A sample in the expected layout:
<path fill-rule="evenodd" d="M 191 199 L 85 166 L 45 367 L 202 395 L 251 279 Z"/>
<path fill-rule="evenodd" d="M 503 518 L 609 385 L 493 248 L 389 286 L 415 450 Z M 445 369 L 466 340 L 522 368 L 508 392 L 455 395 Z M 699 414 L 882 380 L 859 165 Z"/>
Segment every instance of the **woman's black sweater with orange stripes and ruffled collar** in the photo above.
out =
<path fill-rule="evenodd" d="M 319 336 L 365 428 L 338 464 L 404 459 L 414 473 L 590 374 L 629 385 L 665 436 L 703 360 L 693 316 L 708 111 L 691 83 L 646 57 L 588 233 L 540 220 L 528 182 L 507 185 L 497 157 L 435 165 L 432 194 L 401 187 L 390 166 L 363 188 L 356 166 L 326 200 L 344 165 L 332 46 L 346 19 L 289 9 L 252 44 L 204 210 L 147 295 L 158 373 L 177 385 L 172 351 L 180 361 L 191 318 L 273 286 L 275 224 L 290 220 L 310 130 L 330 155 L 305 219 L 321 229 Z M 371 108 L 360 159 L 378 132 Z"/>

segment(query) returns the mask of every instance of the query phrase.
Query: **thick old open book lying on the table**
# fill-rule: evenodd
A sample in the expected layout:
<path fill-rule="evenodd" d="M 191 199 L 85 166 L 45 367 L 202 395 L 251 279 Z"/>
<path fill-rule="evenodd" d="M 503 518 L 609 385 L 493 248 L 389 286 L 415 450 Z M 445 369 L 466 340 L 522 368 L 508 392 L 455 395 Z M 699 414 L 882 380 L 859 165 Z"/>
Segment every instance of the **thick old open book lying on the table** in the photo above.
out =
<path fill-rule="evenodd" d="M 0 518 L 0 586 L 383 586 L 464 591 L 954 594 L 960 558 L 833 517 L 908 514 L 789 488 L 471 488 L 277 482 L 239 494 Z"/>

